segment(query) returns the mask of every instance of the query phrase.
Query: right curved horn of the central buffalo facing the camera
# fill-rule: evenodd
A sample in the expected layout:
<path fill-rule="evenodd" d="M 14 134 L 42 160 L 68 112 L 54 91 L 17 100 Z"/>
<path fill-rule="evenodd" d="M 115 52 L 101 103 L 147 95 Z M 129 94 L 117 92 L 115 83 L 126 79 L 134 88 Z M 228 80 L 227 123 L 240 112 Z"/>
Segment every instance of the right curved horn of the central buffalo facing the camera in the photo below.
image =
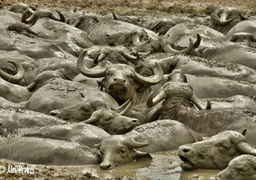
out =
<path fill-rule="evenodd" d="M 158 63 L 155 63 L 156 68 L 153 69 L 154 75 L 153 76 L 141 76 L 137 72 L 134 72 L 135 78 L 138 81 L 138 83 L 144 84 L 144 85 L 154 85 L 158 84 L 162 80 L 163 72 L 162 67 Z"/>

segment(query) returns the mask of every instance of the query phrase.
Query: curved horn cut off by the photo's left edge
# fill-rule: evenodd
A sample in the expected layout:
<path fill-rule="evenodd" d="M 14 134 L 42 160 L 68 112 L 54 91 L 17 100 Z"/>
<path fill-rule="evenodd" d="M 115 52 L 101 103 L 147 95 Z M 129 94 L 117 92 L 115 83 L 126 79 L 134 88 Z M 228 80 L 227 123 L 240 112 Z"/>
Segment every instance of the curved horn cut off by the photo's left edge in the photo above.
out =
<path fill-rule="evenodd" d="M 18 64 L 18 62 L 15 62 L 15 61 L 8 61 L 8 62 L 10 62 L 15 66 L 15 68 L 17 69 L 17 73 L 13 76 L 0 70 L 0 77 L 2 77 L 2 79 L 10 83 L 18 84 L 24 76 L 24 68 L 22 68 L 22 65 Z"/>

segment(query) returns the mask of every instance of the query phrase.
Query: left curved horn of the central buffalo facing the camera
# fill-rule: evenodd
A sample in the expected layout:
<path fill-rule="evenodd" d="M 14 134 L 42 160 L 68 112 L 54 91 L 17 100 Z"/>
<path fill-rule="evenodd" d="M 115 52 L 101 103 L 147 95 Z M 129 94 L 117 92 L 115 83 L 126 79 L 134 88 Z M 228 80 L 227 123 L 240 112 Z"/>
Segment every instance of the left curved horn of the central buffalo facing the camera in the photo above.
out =
<path fill-rule="evenodd" d="M 104 68 L 104 69 L 86 68 L 86 65 L 84 65 L 84 57 L 85 57 L 86 53 L 87 53 L 87 51 L 84 51 L 78 57 L 77 66 L 78 66 L 79 72 L 81 72 L 82 75 L 84 75 L 84 76 L 93 77 L 93 78 L 105 76 L 106 68 Z"/>

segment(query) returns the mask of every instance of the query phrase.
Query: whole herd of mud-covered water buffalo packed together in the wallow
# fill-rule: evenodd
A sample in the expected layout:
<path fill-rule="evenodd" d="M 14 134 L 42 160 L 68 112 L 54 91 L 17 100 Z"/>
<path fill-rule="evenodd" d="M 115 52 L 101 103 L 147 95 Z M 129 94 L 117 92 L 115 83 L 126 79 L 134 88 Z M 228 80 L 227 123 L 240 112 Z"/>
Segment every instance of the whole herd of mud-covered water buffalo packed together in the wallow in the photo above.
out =
<path fill-rule="evenodd" d="M 256 179 L 256 18 L 0 10 L 0 158 L 102 170 L 178 150 Z"/>

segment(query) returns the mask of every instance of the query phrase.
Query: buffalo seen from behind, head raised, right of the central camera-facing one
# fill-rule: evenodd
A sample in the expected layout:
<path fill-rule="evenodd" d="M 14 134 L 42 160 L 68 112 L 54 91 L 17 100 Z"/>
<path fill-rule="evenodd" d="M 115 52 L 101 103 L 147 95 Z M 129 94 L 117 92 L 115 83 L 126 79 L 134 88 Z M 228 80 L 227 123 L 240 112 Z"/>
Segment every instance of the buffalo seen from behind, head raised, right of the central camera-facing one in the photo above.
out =
<path fill-rule="evenodd" d="M 170 74 L 170 81 L 165 84 L 164 91 L 158 96 L 150 94 L 147 105 L 162 102 L 161 119 L 174 119 L 184 123 L 194 131 L 205 135 L 216 135 L 220 131 L 242 131 L 248 128 L 247 139 L 255 143 L 256 112 L 246 109 L 206 109 L 202 101 L 194 95 L 190 84 L 186 83 L 186 76 L 181 72 Z M 200 110 L 195 110 L 191 102 Z M 207 107 L 209 108 L 209 103 Z"/>

